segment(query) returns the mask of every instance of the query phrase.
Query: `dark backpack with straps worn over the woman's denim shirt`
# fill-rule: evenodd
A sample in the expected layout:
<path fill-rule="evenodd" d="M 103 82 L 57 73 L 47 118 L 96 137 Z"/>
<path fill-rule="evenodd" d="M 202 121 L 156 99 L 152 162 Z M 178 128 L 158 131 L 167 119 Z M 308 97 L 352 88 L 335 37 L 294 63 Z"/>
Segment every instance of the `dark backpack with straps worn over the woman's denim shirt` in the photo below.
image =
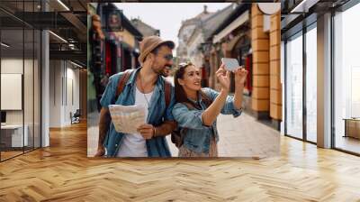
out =
<path fill-rule="evenodd" d="M 212 103 L 211 99 L 205 93 L 201 92 L 201 94 L 203 103 L 206 107 L 209 107 Z M 184 102 L 183 104 L 187 106 L 189 110 L 198 109 L 198 107 L 193 106 L 192 103 Z M 186 135 L 186 132 L 187 128 L 177 127 L 171 133 L 171 142 L 173 142 L 177 148 L 180 148 L 184 144 L 184 137 Z"/>

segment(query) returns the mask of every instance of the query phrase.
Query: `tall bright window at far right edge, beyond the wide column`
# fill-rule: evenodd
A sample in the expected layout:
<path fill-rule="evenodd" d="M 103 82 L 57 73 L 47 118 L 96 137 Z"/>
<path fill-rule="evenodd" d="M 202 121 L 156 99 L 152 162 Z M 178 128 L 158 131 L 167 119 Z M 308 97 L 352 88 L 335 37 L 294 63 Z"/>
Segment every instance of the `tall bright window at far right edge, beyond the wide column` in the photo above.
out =
<path fill-rule="evenodd" d="M 360 153 L 360 4 L 334 16 L 335 147 Z"/>

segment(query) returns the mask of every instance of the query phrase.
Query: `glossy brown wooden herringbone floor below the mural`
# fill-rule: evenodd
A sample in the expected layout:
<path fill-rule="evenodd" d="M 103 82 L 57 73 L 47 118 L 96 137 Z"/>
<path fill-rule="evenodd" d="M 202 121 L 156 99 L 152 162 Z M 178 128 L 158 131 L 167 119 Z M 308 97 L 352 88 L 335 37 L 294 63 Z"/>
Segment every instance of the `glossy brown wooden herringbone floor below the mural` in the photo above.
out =
<path fill-rule="evenodd" d="M 0 163 L 0 201 L 360 201 L 360 158 L 281 138 L 262 160 L 86 158 L 86 124 Z"/>

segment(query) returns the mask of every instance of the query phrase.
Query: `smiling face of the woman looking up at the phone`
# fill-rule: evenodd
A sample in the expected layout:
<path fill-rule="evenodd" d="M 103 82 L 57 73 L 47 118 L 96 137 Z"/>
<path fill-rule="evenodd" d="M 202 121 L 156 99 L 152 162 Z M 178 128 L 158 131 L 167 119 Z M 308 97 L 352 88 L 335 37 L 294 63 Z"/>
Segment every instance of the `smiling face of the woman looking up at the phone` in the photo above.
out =
<path fill-rule="evenodd" d="M 202 88 L 201 81 L 200 69 L 193 65 L 186 67 L 183 78 L 178 78 L 178 82 L 185 92 L 200 90 Z"/>

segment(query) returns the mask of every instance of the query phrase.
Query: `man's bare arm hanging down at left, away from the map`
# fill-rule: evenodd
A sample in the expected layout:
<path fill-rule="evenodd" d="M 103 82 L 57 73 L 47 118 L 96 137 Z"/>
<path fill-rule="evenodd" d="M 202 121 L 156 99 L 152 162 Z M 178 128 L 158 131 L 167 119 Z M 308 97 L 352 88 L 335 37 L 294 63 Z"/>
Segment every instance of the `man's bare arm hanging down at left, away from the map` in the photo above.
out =
<path fill-rule="evenodd" d="M 103 156 L 105 149 L 103 148 L 103 142 L 105 140 L 106 133 L 109 131 L 111 116 L 109 109 L 102 107 L 100 110 L 100 121 L 99 121 L 99 142 L 97 144 L 97 152 L 95 157 Z"/>

